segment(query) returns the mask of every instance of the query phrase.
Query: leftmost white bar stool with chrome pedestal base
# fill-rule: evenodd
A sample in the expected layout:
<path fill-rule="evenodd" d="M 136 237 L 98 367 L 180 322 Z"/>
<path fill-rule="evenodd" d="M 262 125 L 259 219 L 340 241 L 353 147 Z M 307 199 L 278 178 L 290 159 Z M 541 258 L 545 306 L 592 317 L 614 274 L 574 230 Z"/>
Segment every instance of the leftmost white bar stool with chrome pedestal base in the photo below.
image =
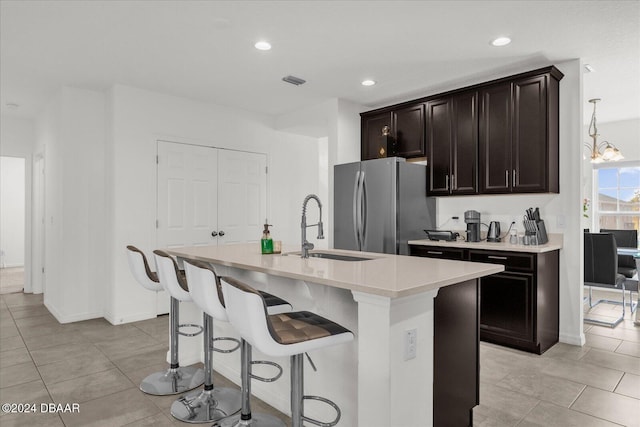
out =
<path fill-rule="evenodd" d="M 127 246 L 127 259 L 133 277 L 146 289 L 154 292 L 163 290 L 158 275 L 151 271 L 144 253 L 135 246 Z M 171 340 L 169 352 L 171 364 L 166 371 L 154 372 L 140 383 L 140 390 L 156 396 L 184 393 L 199 387 L 204 382 L 204 371 L 196 367 L 182 367 L 178 363 L 178 325 L 179 302 L 171 298 L 169 318 L 171 324 Z"/>

